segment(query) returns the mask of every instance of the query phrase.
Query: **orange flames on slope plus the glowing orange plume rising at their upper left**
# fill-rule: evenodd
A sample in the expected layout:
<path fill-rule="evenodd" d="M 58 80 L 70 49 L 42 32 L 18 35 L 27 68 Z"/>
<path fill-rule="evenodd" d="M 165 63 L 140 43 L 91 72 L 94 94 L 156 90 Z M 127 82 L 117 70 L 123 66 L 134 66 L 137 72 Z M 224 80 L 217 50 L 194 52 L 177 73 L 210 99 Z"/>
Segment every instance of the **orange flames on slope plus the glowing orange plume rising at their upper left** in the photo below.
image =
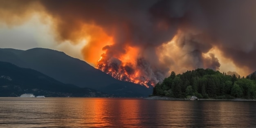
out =
<path fill-rule="evenodd" d="M 104 47 L 111 47 L 114 44 L 113 38 L 96 25 L 86 24 L 81 29 L 83 31 L 79 34 L 86 35 L 84 38 L 88 41 L 82 51 L 84 59 L 88 63 L 96 65 L 97 69 L 121 81 L 137 83 L 146 87 L 155 85 L 149 78 L 145 78 L 146 76 L 141 74 L 142 70 L 137 67 L 139 48 L 126 46 L 125 53 L 117 53 L 110 58 L 106 55 L 108 49 Z M 100 58 L 98 58 L 99 56 Z M 111 59 L 118 61 L 118 64 L 111 65 L 109 62 Z"/>

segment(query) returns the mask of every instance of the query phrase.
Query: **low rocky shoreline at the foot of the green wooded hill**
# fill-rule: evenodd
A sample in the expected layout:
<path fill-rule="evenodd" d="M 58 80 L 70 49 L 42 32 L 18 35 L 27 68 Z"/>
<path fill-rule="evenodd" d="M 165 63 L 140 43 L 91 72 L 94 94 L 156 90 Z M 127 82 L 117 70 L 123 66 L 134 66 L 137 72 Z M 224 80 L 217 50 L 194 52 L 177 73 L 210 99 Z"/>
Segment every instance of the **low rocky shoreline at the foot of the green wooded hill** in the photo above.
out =
<path fill-rule="evenodd" d="M 190 99 L 182 99 L 182 98 L 173 98 L 173 97 L 159 97 L 159 96 L 152 96 L 146 97 L 145 99 L 149 100 L 173 100 L 173 101 L 189 101 Z M 198 99 L 196 101 L 256 101 L 254 99 Z"/>

